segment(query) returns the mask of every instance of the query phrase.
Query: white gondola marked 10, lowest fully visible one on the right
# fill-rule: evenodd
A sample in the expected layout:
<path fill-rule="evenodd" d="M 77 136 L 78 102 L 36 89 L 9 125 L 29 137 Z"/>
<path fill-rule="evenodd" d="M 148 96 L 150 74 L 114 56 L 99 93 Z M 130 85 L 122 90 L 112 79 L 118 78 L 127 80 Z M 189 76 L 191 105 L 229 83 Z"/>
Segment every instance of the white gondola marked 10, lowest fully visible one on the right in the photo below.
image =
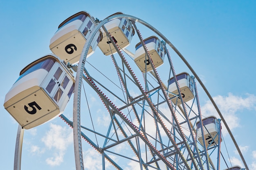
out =
<path fill-rule="evenodd" d="M 207 118 L 202 119 L 203 125 L 204 125 L 204 136 L 205 136 L 205 142 L 206 146 L 213 146 L 217 145 L 219 142 L 218 134 L 220 134 L 219 129 L 219 123 L 215 116 L 209 116 Z M 201 130 L 201 124 L 200 122 L 196 123 L 197 126 L 197 137 L 200 144 L 203 145 L 203 135 Z M 222 139 L 220 138 L 220 142 L 222 142 Z"/>

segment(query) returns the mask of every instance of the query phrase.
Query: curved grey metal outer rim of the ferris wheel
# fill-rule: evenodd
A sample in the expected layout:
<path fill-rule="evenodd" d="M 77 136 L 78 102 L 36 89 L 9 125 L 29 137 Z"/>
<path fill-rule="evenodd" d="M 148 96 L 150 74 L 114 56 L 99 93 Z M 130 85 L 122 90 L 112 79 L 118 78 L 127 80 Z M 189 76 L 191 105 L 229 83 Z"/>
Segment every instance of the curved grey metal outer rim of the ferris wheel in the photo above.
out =
<path fill-rule="evenodd" d="M 115 18 L 126 18 L 128 20 L 131 20 L 133 22 L 139 22 L 140 24 L 143 24 L 144 26 L 148 27 L 149 29 L 151 29 L 152 31 L 154 31 L 157 35 L 159 35 L 159 37 L 161 37 L 166 44 L 168 44 L 175 52 L 176 54 L 182 59 L 182 61 L 187 65 L 187 67 L 189 68 L 189 70 L 192 72 L 192 74 L 195 76 L 195 78 L 198 80 L 198 82 L 200 83 L 200 85 L 203 87 L 204 91 L 206 92 L 207 96 L 209 97 L 209 99 L 211 100 L 211 102 L 213 103 L 216 111 L 218 112 L 220 118 L 222 119 L 222 121 L 224 122 L 229 135 L 231 136 L 236 149 L 238 150 L 238 153 L 245 165 L 245 167 L 248 169 L 248 166 L 245 162 L 245 159 L 243 158 L 243 155 L 240 151 L 240 148 L 238 147 L 233 134 L 231 133 L 224 117 L 222 116 L 220 110 L 218 109 L 218 106 L 216 105 L 216 103 L 214 102 L 213 98 L 211 97 L 211 95 L 209 94 L 208 90 L 206 89 L 206 87 L 204 86 L 204 84 L 202 83 L 202 81 L 200 80 L 199 76 L 195 73 L 195 71 L 193 70 L 193 68 L 191 67 L 191 65 L 186 61 L 186 59 L 183 57 L 183 55 L 175 48 L 175 46 L 173 46 L 173 44 L 164 36 L 162 35 L 162 33 L 160 33 L 157 29 L 155 29 L 153 26 L 151 26 L 150 24 L 148 24 L 147 22 L 145 22 L 144 20 L 139 19 L 138 17 L 134 17 L 132 15 L 126 15 L 126 14 L 117 14 L 117 15 L 112 15 L 110 17 L 107 17 L 106 19 L 102 20 L 101 22 L 99 22 L 99 24 L 92 30 L 92 33 L 89 37 L 89 40 L 86 41 L 83 51 L 81 53 L 81 57 L 79 59 L 79 64 L 78 64 L 78 68 L 77 68 L 77 74 L 76 74 L 76 82 L 75 83 L 75 88 L 74 88 L 74 102 L 73 102 L 73 121 L 74 121 L 74 149 L 75 149 L 75 161 L 76 161 L 76 167 L 81 167 L 81 170 L 83 169 L 83 155 L 82 155 L 82 146 L 81 146 L 81 124 L 80 124 L 80 109 L 81 109 L 81 82 L 83 79 L 83 68 L 85 65 L 85 61 L 86 61 L 86 56 L 89 50 L 89 46 L 92 42 L 92 39 L 94 38 L 95 34 L 97 33 L 97 31 L 99 31 L 99 29 L 106 24 L 108 21 L 113 20 Z M 80 126 L 80 127 L 79 127 Z M 75 133 L 76 132 L 76 133 Z M 79 135 L 80 134 L 80 135 Z M 76 138 L 76 139 L 75 139 Z M 75 141 L 76 140 L 76 141 Z M 77 148 L 79 148 L 79 150 L 77 150 Z M 78 153 L 78 154 L 77 154 Z"/>

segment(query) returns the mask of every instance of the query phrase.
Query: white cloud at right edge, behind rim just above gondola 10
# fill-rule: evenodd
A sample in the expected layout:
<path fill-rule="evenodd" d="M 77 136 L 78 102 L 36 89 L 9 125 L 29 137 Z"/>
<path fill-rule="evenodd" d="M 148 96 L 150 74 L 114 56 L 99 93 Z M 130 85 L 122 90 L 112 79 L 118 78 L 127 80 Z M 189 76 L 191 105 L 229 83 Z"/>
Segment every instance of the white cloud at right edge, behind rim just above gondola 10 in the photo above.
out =
<path fill-rule="evenodd" d="M 253 94 L 247 94 L 246 97 L 241 97 L 229 93 L 228 96 L 213 97 L 213 100 L 216 102 L 231 130 L 239 126 L 239 118 L 236 115 L 237 111 L 242 111 L 243 109 L 256 110 L 256 96 Z M 214 115 L 219 118 L 216 109 L 210 101 L 207 101 L 207 103 L 201 108 L 204 116 Z M 222 133 L 225 135 L 227 134 L 227 131 L 223 127 L 224 126 L 222 126 Z"/>

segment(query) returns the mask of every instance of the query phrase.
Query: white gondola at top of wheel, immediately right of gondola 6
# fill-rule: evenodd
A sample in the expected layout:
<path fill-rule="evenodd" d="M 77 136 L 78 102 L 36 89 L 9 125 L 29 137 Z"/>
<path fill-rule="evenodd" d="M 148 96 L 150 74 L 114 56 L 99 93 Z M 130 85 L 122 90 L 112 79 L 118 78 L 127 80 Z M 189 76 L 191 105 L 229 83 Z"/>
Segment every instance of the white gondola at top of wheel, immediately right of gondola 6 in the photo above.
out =
<path fill-rule="evenodd" d="M 114 13 L 113 15 L 123 14 L 121 12 Z M 112 15 L 110 15 L 112 16 Z M 134 29 L 132 24 L 126 18 L 116 18 L 114 20 L 110 20 L 106 24 L 104 24 L 108 33 L 110 33 L 114 42 L 122 49 L 126 48 L 130 45 L 130 41 L 132 40 L 132 36 L 134 35 Z M 99 42 L 98 46 L 105 55 L 115 54 L 117 51 L 115 47 L 111 43 L 110 39 L 107 37 L 103 28 L 101 28 L 101 32 L 103 33 L 103 38 Z"/>

